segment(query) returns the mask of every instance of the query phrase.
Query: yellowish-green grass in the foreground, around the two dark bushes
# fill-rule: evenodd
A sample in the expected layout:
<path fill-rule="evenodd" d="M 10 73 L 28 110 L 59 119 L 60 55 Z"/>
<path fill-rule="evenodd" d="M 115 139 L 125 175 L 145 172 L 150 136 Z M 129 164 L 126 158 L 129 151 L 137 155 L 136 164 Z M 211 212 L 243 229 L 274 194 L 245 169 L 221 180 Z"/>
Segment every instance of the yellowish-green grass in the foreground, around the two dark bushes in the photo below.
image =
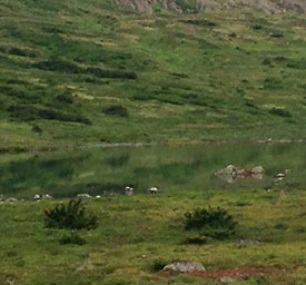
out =
<path fill-rule="evenodd" d="M 303 284 L 305 267 L 303 191 L 182 191 L 87 200 L 99 227 L 79 230 L 83 245 L 63 244 L 69 230 L 43 227 L 43 209 L 56 202 L 0 205 L 0 281 L 9 284 L 220 284 L 217 279 L 154 272 L 157 262 L 193 259 L 208 271 L 239 267 L 280 269 L 267 284 Z M 225 242 L 188 245 L 184 214 L 220 206 L 238 222 Z M 282 227 L 279 225 L 283 225 Z M 286 225 L 286 226 L 284 226 Z M 239 238 L 261 244 L 241 246 Z M 257 277 L 234 284 L 259 284 Z M 261 277 L 263 278 L 263 277 Z"/>

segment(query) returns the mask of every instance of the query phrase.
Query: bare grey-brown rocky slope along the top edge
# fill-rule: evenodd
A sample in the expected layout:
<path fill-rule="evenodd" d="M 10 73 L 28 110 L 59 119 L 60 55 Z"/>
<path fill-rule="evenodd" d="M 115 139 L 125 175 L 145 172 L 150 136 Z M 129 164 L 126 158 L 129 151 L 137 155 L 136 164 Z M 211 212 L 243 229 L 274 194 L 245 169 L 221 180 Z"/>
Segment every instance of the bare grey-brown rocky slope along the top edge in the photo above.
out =
<path fill-rule="evenodd" d="M 116 0 L 140 12 L 151 13 L 160 8 L 175 12 L 224 11 L 244 9 L 265 13 L 306 12 L 304 0 Z"/>

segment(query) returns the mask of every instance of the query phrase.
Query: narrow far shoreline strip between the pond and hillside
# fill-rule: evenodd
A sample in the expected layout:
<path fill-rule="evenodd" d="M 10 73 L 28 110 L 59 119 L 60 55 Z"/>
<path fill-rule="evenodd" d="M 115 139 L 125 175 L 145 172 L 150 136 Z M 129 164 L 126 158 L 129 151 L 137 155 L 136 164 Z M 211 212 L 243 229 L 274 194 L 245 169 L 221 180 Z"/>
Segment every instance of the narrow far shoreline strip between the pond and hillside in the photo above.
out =
<path fill-rule="evenodd" d="M 0 147 L 0 155 L 3 154 L 27 154 L 27 153 L 52 153 L 72 151 L 76 149 L 99 149 L 99 148 L 122 148 L 122 147 L 154 147 L 154 146 L 187 146 L 187 145 L 247 145 L 247 144 L 305 144 L 306 139 L 256 139 L 256 140 L 191 140 L 186 142 L 110 142 L 110 144 L 88 144 L 70 147 Z"/>

